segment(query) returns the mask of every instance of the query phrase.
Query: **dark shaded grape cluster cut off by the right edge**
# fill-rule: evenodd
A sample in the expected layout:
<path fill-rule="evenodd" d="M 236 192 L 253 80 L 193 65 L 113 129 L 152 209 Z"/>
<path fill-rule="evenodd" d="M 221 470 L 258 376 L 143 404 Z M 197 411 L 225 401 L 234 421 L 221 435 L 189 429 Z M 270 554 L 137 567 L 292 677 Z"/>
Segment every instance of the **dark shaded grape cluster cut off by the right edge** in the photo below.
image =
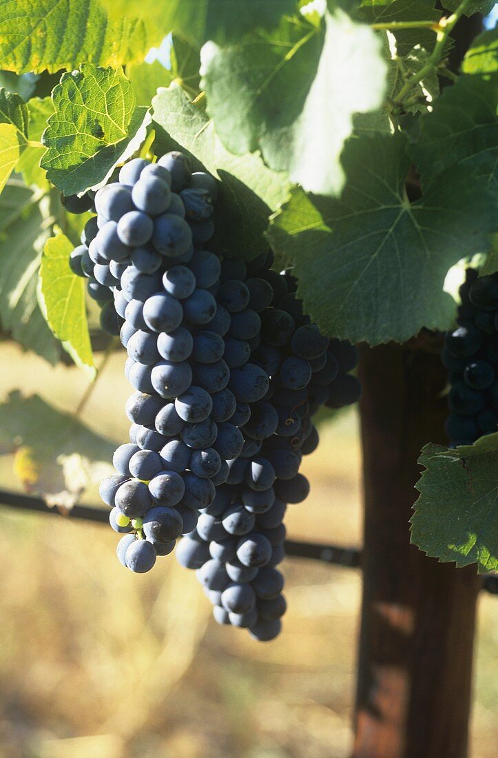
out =
<path fill-rule="evenodd" d="M 478 277 L 468 268 L 459 293 L 458 327 L 446 334 L 443 349 L 453 447 L 498 430 L 498 273 Z"/>

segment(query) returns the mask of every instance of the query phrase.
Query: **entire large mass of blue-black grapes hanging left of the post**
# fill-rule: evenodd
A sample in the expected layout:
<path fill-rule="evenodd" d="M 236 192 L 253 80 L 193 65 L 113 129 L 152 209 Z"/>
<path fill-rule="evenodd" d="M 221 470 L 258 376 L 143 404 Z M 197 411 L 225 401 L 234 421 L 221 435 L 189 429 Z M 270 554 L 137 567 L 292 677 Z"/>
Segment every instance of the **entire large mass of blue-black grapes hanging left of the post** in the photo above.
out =
<path fill-rule="evenodd" d="M 303 314 L 271 251 L 246 265 L 207 249 L 217 196 L 181 153 L 136 158 L 91 199 L 71 265 L 110 293 L 135 390 L 130 442 L 101 486 L 118 559 L 149 571 L 184 535 L 177 558 L 215 619 L 270 640 L 286 607 L 283 515 L 309 492 L 299 466 L 318 444 L 312 416 L 358 399 L 357 352 Z"/>

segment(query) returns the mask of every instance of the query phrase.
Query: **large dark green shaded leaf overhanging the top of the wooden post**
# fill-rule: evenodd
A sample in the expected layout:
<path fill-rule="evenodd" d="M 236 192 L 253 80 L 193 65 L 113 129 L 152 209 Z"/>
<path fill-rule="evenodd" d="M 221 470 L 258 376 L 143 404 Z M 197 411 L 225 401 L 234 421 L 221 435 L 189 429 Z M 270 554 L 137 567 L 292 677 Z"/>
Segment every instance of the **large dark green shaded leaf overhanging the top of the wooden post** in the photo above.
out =
<path fill-rule="evenodd" d="M 298 189 L 271 220 L 271 245 L 293 267 L 305 312 L 331 337 L 371 344 L 450 327 L 456 306 L 443 292 L 446 273 L 485 252 L 496 224 L 487 183 L 457 167 L 410 203 L 399 134 L 350 139 L 343 164 L 340 200 Z"/>

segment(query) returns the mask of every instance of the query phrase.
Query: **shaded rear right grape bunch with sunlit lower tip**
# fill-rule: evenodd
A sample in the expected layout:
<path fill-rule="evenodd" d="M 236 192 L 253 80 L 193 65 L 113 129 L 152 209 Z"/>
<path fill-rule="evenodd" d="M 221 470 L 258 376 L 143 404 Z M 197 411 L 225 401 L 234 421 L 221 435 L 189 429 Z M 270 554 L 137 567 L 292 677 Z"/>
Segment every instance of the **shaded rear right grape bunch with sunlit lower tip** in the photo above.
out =
<path fill-rule="evenodd" d="M 258 308 L 261 318 L 250 361 L 265 370 L 268 390 L 249 404 L 251 415 L 241 426 L 243 451 L 228 462 L 226 483 L 176 553 L 181 565 L 197 569 L 216 621 L 249 628 L 261 641 L 279 633 L 286 609 L 276 567 L 285 555 L 287 504 L 309 493 L 299 466 L 318 445 L 312 415 L 324 403 L 337 408 L 355 402 L 361 391 L 347 373 L 358 360 L 356 349 L 323 337 L 302 313 L 294 278 L 265 265 L 268 258 L 252 262 L 245 284 L 254 293 L 248 305 Z M 242 281 L 244 267 L 237 266 Z"/>

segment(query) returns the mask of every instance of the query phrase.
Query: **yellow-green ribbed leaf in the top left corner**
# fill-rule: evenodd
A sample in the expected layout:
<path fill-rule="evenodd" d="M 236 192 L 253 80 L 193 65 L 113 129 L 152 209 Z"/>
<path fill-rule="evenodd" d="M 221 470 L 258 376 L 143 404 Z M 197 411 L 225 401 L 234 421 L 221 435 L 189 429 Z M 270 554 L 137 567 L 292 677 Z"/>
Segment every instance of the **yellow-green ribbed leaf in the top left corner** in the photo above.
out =
<path fill-rule="evenodd" d="M 139 61 L 157 34 L 136 8 L 109 20 L 99 0 L 0 0 L 0 67 L 17 74 Z"/>

